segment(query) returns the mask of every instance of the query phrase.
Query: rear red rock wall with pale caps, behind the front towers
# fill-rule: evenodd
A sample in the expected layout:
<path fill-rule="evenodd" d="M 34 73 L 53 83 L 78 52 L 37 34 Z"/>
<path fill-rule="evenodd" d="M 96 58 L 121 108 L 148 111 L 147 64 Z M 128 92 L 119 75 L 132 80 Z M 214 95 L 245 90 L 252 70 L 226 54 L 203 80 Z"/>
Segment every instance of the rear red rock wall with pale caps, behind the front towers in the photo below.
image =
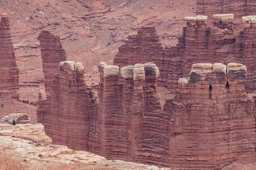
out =
<path fill-rule="evenodd" d="M 129 36 L 120 46 L 114 64 L 120 67 L 138 62 L 154 62 L 159 67 L 159 85 L 170 89 L 177 87 L 182 76 L 188 76 L 191 64 L 198 62 L 241 62 L 248 67 L 245 88 L 253 92 L 256 76 L 255 27 L 253 16 L 244 17 L 244 26 L 236 31 L 233 14 L 213 15 L 212 24 L 209 17 L 198 15 L 185 17 L 187 26 L 177 46 L 161 47 L 154 27 L 141 27 L 136 36 Z"/>

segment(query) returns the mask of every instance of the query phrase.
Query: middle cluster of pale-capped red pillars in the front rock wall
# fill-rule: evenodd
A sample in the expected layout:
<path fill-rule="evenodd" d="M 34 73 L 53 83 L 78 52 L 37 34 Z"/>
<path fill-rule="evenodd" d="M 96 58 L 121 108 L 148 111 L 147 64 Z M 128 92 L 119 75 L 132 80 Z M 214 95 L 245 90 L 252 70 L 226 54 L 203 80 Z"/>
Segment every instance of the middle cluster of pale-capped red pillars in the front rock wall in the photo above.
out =
<path fill-rule="evenodd" d="M 122 67 L 99 64 L 100 154 L 159 164 L 168 148 L 168 113 L 156 94 L 159 69 L 150 62 Z M 159 125 L 161 124 L 161 125 Z"/>

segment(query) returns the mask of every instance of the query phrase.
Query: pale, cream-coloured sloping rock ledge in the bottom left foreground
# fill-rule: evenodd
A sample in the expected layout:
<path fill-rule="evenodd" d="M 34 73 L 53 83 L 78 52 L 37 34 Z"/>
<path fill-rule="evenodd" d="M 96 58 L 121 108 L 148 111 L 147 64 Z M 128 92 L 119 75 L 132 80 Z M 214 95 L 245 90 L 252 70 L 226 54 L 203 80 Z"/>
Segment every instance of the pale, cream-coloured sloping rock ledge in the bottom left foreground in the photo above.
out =
<path fill-rule="evenodd" d="M 51 138 L 45 135 L 42 124 L 0 124 L 0 150 L 0 169 L 164 170 L 122 160 L 106 160 L 93 153 L 51 145 Z"/>

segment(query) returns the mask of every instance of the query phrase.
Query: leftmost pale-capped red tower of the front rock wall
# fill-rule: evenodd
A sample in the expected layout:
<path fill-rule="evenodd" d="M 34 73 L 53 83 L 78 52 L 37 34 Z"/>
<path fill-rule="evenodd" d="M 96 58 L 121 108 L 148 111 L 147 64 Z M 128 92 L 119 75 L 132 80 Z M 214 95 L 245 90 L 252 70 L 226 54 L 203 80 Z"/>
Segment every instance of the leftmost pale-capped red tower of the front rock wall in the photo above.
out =
<path fill-rule="evenodd" d="M 95 98 L 84 82 L 84 67 L 80 62 L 60 62 L 54 76 L 51 95 L 38 103 L 38 120 L 53 143 L 76 150 L 88 150 Z"/>

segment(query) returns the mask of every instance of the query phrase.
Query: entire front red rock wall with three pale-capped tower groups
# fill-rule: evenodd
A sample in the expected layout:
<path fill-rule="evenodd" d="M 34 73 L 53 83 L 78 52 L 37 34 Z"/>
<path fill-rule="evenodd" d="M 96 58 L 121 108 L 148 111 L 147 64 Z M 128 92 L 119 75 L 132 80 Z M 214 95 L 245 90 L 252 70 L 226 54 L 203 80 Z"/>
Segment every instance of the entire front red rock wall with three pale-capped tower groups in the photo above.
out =
<path fill-rule="evenodd" d="M 159 69 L 152 62 L 121 69 L 100 62 L 97 104 L 83 71 L 81 64 L 60 62 L 44 108 L 53 143 L 180 169 L 255 160 L 255 99 L 244 90 L 243 64 L 193 64 L 163 110 L 156 90 Z"/>

